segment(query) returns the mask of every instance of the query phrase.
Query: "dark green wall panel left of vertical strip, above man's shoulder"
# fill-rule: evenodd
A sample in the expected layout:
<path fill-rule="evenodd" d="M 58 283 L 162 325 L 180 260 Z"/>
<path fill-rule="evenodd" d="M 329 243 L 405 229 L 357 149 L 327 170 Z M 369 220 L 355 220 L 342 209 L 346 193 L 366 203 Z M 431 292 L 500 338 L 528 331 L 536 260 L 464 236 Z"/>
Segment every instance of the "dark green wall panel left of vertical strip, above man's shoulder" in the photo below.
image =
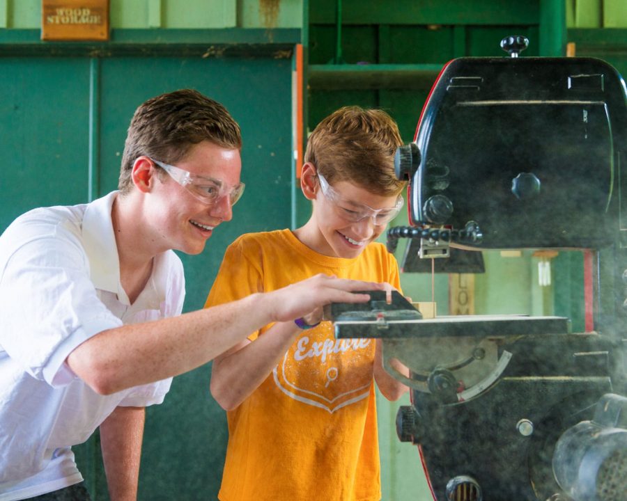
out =
<path fill-rule="evenodd" d="M 1 231 L 33 207 L 86 200 L 88 61 L 0 58 L 0 88 Z"/>

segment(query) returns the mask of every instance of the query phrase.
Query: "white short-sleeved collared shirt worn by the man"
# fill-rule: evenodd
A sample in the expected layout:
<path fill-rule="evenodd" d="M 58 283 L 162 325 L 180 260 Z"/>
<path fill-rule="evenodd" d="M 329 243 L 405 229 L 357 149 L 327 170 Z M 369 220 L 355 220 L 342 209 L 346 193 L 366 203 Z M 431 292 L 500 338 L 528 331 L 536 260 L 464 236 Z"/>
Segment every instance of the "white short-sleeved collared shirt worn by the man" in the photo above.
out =
<path fill-rule="evenodd" d="M 116 196 L 35 209 L 0 237 L 0 501 L 81 482 L 70 446 L 116 406 L 160 404 L 170 388 L 166 379 L 98 395 L 65 363 L 93 335 L 183 309 L 183 265 L 171 250 L 130 304 L 111 223 Z"/>

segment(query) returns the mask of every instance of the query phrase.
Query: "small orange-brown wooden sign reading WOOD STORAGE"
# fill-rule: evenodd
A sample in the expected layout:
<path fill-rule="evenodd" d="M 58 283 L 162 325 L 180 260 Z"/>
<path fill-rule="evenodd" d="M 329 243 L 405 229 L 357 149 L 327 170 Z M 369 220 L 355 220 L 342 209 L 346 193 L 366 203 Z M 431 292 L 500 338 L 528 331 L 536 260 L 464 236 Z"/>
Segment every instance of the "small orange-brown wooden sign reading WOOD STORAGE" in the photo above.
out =
<path fill-rule="evenodd" d="M 109 0 L 42 0 L 42 40 L 109 40 Z"/>

